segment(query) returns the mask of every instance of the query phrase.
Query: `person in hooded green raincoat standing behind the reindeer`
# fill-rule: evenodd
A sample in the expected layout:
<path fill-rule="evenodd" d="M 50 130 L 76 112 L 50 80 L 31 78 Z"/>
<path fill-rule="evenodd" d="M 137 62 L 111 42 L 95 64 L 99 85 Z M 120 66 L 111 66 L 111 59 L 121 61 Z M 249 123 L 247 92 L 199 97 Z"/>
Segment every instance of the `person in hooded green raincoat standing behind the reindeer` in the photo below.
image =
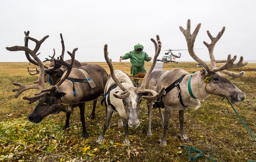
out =
<path fill-rule="evenodd" d="M 130 59 L 131 62 L 131 74 L 138 75 L 138 73 L 146 73 L 146 68 L 144 67 L 144 61 L 150 61 L 152 57 L 149 57 L 146 52 L 143 51 L 143 46 L 141 44 L 136 44 L 134 50 L 120 56 L 121 60 Z"/>

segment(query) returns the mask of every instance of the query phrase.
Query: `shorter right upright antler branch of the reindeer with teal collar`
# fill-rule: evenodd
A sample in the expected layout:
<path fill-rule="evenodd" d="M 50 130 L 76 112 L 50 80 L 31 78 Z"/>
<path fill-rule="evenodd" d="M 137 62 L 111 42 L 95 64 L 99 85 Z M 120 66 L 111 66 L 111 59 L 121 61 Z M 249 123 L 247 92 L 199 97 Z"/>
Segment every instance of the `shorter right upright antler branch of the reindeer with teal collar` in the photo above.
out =
<path fill-rule="evenodd" d="M 214 37 L 212 37 L 210 31 L 207 30 L 207 35 L 209 36 L 209 38 L 212 42 L 211 42 L 211 44 L 208 44 L 205 41 L 203 42 L 205 44 L 205 46 L 208 48 L 212 68 L 216 67 L 216 60 L 215 60 L 214 55 L 213 55 L 213 49 L 214 49 L 214 46 L 217 43 L 217 41 L 223 35 L 224 31 L 225 31 L 225 27 L 223 27 L 222 30 L 218 33 L 217 37 L 214 38 Z"/>

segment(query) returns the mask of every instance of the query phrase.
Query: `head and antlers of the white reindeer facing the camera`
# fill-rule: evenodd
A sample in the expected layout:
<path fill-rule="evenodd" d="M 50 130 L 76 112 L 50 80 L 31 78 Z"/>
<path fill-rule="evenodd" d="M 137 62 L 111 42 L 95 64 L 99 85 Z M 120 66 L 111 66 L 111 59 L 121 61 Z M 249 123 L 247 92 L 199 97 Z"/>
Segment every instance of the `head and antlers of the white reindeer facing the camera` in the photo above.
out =
<path fill-rule="evenodd" d="M 160 54 L 161 50 L 161 41 L 159 39 L 159 36 L 157 35 L 157 43 L 154 39 L 151 39 L 151 41 L 155 45 L 155 56 L 153 59 L 153 63 L 146 73 L 146 76 L 144 77 L 144 80 L 140 87 L 134 87 L 130 85 L 121 84 L 119 79 L 115 76 L 114 68 L 112 65 L 111 60 L 108 58 L 108 45 L 105 44 L 104 46 L 104 57 L 106 59 L 106 62 L 108 63 L 108 66 L 110 67 L 110 74 L 114 82 L 119 86 L 121 91 L 117 91 L 113 93 L 113 96 L 122 99 L 123 105 L 125 107 L 126 115 L 128 116 L 128 124 L 130 127 L 137 127 L 139 126 L 139 107 L 141 103 L 141 97 L 144 99 L 157 99 L 164 95 L 164 89 L 162 88 L 159 93 L 156 93 L 156 91 L 145 89 L 146 82 L 148 80 L 148 77 L 152 70 L 154 69 L 154 66 L 156 64 L 156 58 Z M 131 80 L 131 79 L 130 79 Z M 148 96 L 151 95 L 151 96 Z"/>

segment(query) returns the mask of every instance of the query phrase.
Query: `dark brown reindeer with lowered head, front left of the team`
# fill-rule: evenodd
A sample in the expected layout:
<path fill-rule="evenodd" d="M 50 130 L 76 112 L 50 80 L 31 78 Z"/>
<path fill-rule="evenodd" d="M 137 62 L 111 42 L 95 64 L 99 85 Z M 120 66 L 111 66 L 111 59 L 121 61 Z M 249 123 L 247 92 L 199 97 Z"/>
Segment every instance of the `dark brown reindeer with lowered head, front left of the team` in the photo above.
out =
<path fill-rule="evenodd" d="M 15 98 L 17 98 L 23 91 L 27 89 L 40 89 L 40 92 L 34 93 L 34 96 L 23 97 L 23 99 L 29 100 L 28 104 L 34 103 L 37 100 L 39 101 L 34 111 L 29 115 L 28 120 L 32 123 L 39 123 L 49 114 L 52 114 L 56 111 L 63 111 L 66 112 L 67 119 L 64 129 L 69 127 L 69 118 L 73 112 L 73 108 L 79 106 L 80 120 L 83 127 L 82 137 L 88 138 L 84 119 L 84 102 L 97 99 L 104 93 L 104 86 L 106 85 L 108 74 L 106 70 L 100 65 L 88 65 L 80 68 L 72 68 L 75 61 L 75 52 L 78 50 L 75 48 L 72 53 L 67 51 L 67 53 L 71 56 L 71 63 L 65 62 L 62 56 L 60 56 L 60 59 L 53 58 L 53 61 L 56 64 L 67 67 L 67 71 L 63 74 L 62 78 L 55 86 L 46 88 L 44 82 L 45 65 L 43 65 L 43 62 L 36 56 L 36 52 L 48 37 L 49 36 L 47 35 L 42 40 L 38 41 L 32 37 L 26 36 L 27 39 L 36 42 L 34 50 L 30 50 L 26 46 L 6 47 L 6 49 L 9 51 L 27 52 L 36 60 L 41 69 L 38 80 L 34 82 L 34 85 L 23 86 L 20 83 L 13 83 L 16 86 L 19 86 L 19 88 L 13 89 L 14 92 L 17 91 Z M 82 71 L 86 71 L 89 74 L 90 79 L 87 79 Z M 74 82 L 75 80 L 93 80 L 95 87 L 92 88 L 88 83 L 84 82 L 74 83 L 72 80 Z M 76 96 L 74 95 L 75 93 L 73 93 L 74 88 L 77 94 Z"/>

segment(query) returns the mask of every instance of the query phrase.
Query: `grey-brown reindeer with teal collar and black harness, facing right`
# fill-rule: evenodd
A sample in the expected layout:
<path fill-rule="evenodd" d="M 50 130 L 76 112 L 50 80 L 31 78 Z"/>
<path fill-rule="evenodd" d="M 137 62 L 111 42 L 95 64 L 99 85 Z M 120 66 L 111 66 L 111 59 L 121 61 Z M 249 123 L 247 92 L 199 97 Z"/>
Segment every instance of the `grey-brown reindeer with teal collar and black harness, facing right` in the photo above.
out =
<path fill-rule="evenodd" d="M 240 74 L 236 74 L 226 71 L 225 69 L 243 67 L 247 65 L 247 62 L 243 63 L 243 57 L 241 56 L 240 61 L 234 64 L 234 61 L 237 57 L 234 56 L 234 58 L 231 59 L 231 55 L 228 55 L 227 60 L 215 60 L 213 55 L 213 49 L 216 42 L 224 33 L 225 27 L 223 27 L 215 38 L 212 37 L 209 31 L 207 31 L 207 34 L 212 42 L 211 44 L 208 44 L 205 41 L 203 42 L 209 50 L 211 60 L 211 67 L 209 67 L 208 64 L 205 63 L 205 61 L 201 60 L 199 57 L 197 57 L 194 52 L 194 42 L 200 27 L 201 24 L 198 24 L 192 35 L 190 33 L 190 20 L 188 20 L 187 22 L 186 30 L 183 29 L 183 27 L 179 28 L 187 41 L 187 47 L 190 56 L 195 61 L 200 63 L 204 68 L 194 74 L 189 74 L 185 70 L 180 68 L 176 68 L 171 71 L 154 71 L 150 74 L 148 84 L 146 84 L 145 87 L 147 89 L 152 89 L 156 92 L 162 87 L 172 86 L 172 83 L 174 84 L 173 87 L 177 87 L 174 89 L 166 88 L 166 94 L 161 98 L 162 101 L 158 102 L 162 108 L 165 108 L 164 117 L 161 108 L 159 108 L 162 125 L 164 127 L 162 137 L 159 141 L 160 144 L 163 146 L 167 145 L 166 131 L 168 129 L 170 112 L 172 110 L 179 111 L 179 137 L 181 138 L 181 140 L 185 140 L 185 142 L 188 142 L 189 138 L 183 130 L 184 111 L 187 107 L 191 107 L 195 110 L 198 109 L 201 105 L 200 101 L 204 101 L 204 99 L 206 99 L 210 94 L 227 98 L 234 104 L 238 104 L 245 100 L 245 94 L 234 84 L 232 84 L 222 73 L 232 76 L 234 78 L 239 78 L 245 73 L 244 71 L 242 71 Z M 216 67 L 216 63 L 223 62 L 226 62 L 225 65 L 221 67 Z M 146 101 L 147 104 L 150 104 L 151 102 L 152 100 Z M 150 109 L 150 106 L 148 106 L 148 109 Z M 151 112 L 149 112 L 149 116 L 149 120 L 151 120 Z M 148 126 L 147 137 L 152 136 L 150 127 L 151 121 Z"/>

